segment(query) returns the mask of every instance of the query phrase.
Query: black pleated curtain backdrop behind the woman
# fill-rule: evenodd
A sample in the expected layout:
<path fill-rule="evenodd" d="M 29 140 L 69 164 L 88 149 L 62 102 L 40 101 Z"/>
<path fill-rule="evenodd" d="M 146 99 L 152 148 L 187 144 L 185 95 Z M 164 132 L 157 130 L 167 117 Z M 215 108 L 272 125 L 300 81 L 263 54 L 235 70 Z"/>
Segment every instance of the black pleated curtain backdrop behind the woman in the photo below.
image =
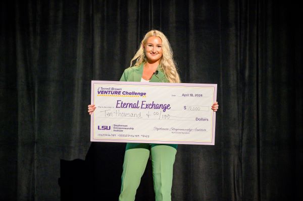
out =
<path fill-rule="evenodd" d="M 123 143 L 91 143 L 90 81 L 143 35 L 217 83 L 215 146 L 180 145 L 172 200 L 302 199 L 302 11 L 280 1 L 2 1 L 0 200 L 118 200 Z M 150 162 L 136 200 L 154 200 Z"/>

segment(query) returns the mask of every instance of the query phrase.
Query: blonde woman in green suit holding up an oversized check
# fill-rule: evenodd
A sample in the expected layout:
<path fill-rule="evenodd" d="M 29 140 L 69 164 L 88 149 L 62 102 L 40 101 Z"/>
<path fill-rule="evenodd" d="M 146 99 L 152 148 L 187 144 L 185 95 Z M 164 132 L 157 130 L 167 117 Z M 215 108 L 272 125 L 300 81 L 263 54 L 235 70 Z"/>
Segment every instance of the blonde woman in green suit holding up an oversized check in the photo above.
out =
<path fill-rule="evenodd" d="M 130 67 L 124 71 L 120 81 L 180 83 L 171 46 L 162 32 L 151 30 L 145 34 L 138 51 L 130 61 Z M 218 107 L 215 102 L 212 105 L 213 111 L 216 112 Z M 89 114 L 92 114 L 95 108 L 95 105 L 88 105 Z M 176 152 L 177 145 L 127 143 L 119 201 L 135 200 L 149 155 L 153 165 L 156 201 L 171 200 Z"/>

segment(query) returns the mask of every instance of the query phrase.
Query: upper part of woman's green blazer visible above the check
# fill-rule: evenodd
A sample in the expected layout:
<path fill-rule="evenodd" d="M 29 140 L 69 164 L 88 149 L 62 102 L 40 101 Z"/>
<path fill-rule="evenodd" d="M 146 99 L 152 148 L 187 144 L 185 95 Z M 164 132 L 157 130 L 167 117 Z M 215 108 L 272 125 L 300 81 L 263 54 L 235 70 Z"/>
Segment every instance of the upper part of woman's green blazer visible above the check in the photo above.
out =
<path fill-rule="evenodd" d="M 164 75 L 163 70 L 160 68 L 160 65 L 157 69 L 157 75 L 153 75 L 149 82 L 169 82 Z M 124 82 L 141 82 L 143 73 L 143 63 L 138 66 L 132 66 L 125 69 L 124 73 L 121 76 L 120 81 Z"/>

